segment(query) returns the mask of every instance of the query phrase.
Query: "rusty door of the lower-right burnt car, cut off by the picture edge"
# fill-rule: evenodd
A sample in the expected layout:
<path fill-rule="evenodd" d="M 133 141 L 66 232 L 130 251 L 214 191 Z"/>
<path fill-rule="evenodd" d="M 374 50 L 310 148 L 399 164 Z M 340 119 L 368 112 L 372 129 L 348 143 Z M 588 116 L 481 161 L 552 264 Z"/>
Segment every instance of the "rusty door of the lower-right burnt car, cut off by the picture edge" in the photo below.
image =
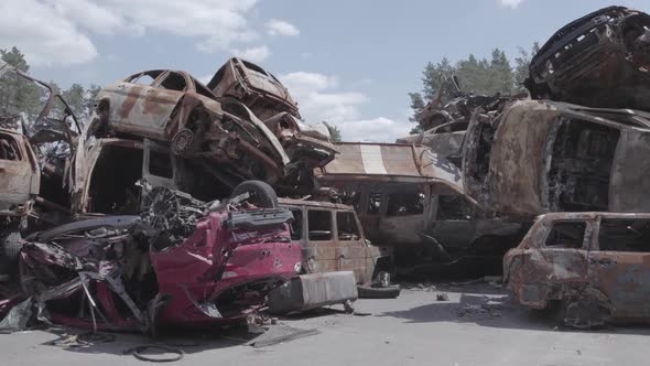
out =
<path fill-rule="evenodd" d="M 600 216 L 589 280 L 622 319 L 650 316 L 650 217 Z"/>

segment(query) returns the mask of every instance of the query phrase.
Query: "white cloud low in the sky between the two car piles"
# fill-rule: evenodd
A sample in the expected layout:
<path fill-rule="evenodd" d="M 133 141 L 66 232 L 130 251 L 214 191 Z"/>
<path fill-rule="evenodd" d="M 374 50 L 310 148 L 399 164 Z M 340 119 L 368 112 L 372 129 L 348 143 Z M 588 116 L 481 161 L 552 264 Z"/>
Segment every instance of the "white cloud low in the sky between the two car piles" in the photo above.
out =
<path fill-rule="evenodd" d="M 359 106 L 368 96 L 360 92 L 339 90 L 338 78 L 318 73 L 295 72 L 279 76 L 307 122 L 327 121 L 337 126 L 346 141 L 394 142 L 408 134 L 410 126 L 378 117 L 365 119 Z"/>

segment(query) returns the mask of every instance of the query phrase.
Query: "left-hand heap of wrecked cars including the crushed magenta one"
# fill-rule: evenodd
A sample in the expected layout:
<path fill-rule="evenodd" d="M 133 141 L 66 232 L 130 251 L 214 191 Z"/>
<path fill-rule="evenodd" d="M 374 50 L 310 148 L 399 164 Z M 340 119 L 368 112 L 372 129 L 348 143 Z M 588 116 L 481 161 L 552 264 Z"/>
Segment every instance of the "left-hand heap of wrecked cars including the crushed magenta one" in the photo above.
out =
<path fill-rule="evenodd" d="M 0 327 L 209 326 L 253 313 L 282 284 L 327 294 L 292 310 L 351 309 L 357 283 L 377 277 L 382 254 L 351 207 L 279 203 L 277 192 L 313 192 L 312 170 L 337 151 L 327 128 L 302 122 L 286 89 L 259 66 L 230 60 L 208 86 L 181 71 L 142 72 L 101 89 L 83 128 L 63 111 L 1 131 L 9 185 Z M 53 172 L 59 180 L 44 182 Z M 317 283 L 288 283 L 302 273 Z M 342 290 L 313 290 L 323 282 Z"/>

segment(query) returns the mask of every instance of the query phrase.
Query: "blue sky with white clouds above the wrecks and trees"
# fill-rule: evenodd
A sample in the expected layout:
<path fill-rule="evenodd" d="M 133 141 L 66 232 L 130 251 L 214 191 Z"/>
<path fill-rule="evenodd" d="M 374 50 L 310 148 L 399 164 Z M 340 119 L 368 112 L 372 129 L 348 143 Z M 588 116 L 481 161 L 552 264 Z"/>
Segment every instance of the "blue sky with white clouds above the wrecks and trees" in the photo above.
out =
<path fill-rule="evenodd" d="M 567 22 L 650 0 L 2 0 L 0 49 L 63 88 L 172 68 L 203 80 L 240 56 L 273 73 L 305 121 L 347 141 L 393 142 L 427 62 L 543 43 Z"/>

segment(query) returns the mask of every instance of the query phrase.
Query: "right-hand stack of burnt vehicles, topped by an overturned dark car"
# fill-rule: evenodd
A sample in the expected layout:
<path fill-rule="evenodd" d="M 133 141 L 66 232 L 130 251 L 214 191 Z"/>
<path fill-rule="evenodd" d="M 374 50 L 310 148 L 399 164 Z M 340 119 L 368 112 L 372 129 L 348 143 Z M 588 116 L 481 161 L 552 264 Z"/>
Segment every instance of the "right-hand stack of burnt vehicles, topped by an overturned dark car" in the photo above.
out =
<path fill-rule="evenodd" d="M 398 141 L 452 159 L 487 217 L 534 220 L 503 260 L 520 303 L 562 310 L 573 326 L 647 320 L 650 15 L 589 13 L 555 32 L 529 71 L 530 98 L 463 95 L 443 77 L 456 99 L 441 106 L 438 90 L 424 132 Z"/>

